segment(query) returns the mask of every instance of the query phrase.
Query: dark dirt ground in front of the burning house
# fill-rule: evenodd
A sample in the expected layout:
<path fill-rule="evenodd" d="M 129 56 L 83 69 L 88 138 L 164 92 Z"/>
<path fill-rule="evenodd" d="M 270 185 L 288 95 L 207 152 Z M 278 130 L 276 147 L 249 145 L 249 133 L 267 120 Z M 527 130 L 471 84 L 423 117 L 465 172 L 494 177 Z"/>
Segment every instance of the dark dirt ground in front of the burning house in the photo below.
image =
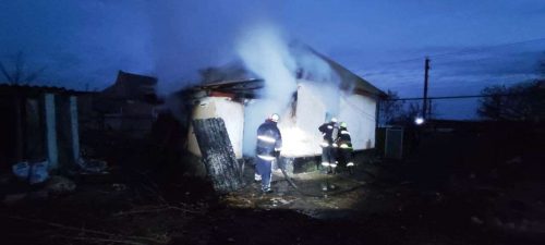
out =
<path fill-rule="evenodd" d="M 299 189 L 276 171 L 267 195 L 251 167 L 247 185 L 226 196 L 128 167 L 73 177 L 74 192 L 35 188 L 3 204 L 1 244 L 545 244 L 544 156 L 453 168 L 460 149 L 443 151 L 445 140 L 423 140 L 426 151 L 403 161 L 360 156 L 353 174 L 294 174 Z"/>

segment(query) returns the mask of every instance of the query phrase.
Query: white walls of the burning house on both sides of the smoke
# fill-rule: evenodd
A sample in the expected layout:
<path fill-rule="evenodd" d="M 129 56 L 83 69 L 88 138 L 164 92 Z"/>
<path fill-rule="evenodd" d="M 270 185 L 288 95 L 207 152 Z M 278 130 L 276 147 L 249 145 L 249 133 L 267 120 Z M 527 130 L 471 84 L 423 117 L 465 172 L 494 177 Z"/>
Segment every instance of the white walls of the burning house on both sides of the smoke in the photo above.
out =
<path fill-rule="evenodd" d="M 308 81 L 300 81 L 298 86 L 296 111 L 293 115 L 291 108 L 280 113 L 278 127 L 282 134 L 282 156 L 308 157 L 322 154 L 319 144 L 322 133 L 318 126 L 326 120 L 326 113 L 334 114 L 339 122 L 348 123 L 354 149 L 368 149 L 375 147 L 375 110 L 376 100 L 364 95 L 336 95 L 339 99 L 325 105 L 323 87 Z M 331 101 L 328 101 L 331 103 Z M 246 114 L 246 117 L 256 117 Z M 244 105 L 231 101 L 226 97 L 207 97 L 195 106 L 193 119 L 221 118 L 226 122 L 231 145 L 237 158 L 242 158 L 244 134 Z M 259 119 L 263 117 L 259 117 Z M 245 128 L 255 132 L 257 128 Z M 187 149 L 201 157 L 193 127 L 190 126 Z M 253 149 L 246 150 L 252 152 Z"/>

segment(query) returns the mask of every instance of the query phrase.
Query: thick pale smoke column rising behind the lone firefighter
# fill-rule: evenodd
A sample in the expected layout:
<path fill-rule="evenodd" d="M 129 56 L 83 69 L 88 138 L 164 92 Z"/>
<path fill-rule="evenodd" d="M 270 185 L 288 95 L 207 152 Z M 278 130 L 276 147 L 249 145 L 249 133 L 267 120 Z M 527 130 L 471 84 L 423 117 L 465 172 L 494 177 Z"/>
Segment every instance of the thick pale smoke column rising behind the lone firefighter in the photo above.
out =
<path fill-rule="evenodd" d="M 271 25 L 247 28 L 239 38 L 237 52 L 246 69 L 266 83 L 263 98 L 249 103 L 244 111 L 244 154 L 252 155 L 259 124 L 271 113 L 280 114 L 281 120 L 287 115 L 296 90 L 295 62 L 282 34 Z"/>

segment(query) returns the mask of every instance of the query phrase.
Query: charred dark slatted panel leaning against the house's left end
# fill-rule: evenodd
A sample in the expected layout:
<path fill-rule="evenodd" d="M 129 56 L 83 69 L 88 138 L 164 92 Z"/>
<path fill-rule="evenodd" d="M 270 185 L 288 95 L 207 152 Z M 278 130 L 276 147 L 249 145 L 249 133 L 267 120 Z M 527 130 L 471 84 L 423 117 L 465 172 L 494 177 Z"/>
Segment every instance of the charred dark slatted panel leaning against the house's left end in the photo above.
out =
<path fill-rule="evenodd" d="M 222 119 L 193 120 L 193 127 L 203 162 L 218 193 L 241 188 L 241 167 L 234 156 L 229 134 Z"/>

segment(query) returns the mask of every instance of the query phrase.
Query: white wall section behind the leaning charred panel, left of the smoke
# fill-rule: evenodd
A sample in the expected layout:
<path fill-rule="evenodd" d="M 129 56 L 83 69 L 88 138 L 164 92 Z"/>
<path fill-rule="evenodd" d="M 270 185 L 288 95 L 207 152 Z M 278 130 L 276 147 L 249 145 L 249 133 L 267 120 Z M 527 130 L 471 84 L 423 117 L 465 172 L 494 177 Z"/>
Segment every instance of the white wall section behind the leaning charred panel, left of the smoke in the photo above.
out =
<path fill-rule="evenodd" d="M 227 97 L 207 97 L 193 109 L 192 119 L 223 119 L 229 134 L 229 139 L 237 158 L 242 158 L 242 136 L 244 125 L 244 105 L 231 101 Z M 187 150 L 198 157 L 202 156 L 193 131 L 193 125 L 189 130 Z"/>

